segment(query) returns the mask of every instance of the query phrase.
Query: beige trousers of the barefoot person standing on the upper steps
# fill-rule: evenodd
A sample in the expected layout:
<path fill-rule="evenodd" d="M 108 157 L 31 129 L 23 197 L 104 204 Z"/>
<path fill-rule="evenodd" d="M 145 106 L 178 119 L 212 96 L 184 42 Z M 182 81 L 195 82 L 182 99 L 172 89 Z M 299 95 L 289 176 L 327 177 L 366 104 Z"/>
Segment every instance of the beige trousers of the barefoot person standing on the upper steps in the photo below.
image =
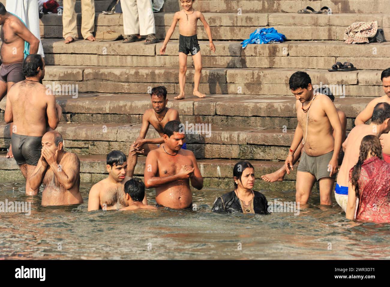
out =
<path fill-rule="evenodd" d="M 71 36 L 73 39 L 77 37 L 76 12 L 74 5 L 76 0 L 63 0 L 64 12 L 62 14 L 62 37 Z M 93 36 L 95 29 L 95 1 L 81 0 L 81 34 L 84 39 Z"/>

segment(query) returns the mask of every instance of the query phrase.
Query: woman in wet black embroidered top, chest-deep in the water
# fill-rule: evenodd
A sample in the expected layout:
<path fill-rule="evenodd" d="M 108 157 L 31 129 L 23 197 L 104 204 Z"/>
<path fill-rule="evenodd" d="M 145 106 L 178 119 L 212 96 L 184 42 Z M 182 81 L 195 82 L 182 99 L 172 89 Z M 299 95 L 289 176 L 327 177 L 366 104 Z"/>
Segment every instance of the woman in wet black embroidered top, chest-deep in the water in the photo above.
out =
<path fill-rule="evenodd" d="M 252 190 L 255 184 L 255 170 L 252 164 L 247 161 L 236 163 L 233 176 L 234 191 L 218 197 L 212 211 L 268 214 L 266 197 Z"/>

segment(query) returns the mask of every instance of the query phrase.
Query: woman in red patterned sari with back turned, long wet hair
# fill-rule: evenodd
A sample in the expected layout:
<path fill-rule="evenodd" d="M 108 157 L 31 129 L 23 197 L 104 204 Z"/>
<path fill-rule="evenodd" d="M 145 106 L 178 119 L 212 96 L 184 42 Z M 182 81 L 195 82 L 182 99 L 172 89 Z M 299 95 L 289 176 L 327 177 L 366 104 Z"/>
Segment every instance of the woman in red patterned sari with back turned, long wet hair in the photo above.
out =
<path fill-rule="evenodd" d="M 390 164 L 382 160 L 377 136 L 366 135 L 360 144 L 358 163 L 349 171 L 346 217 L 356 220 L 390 222 Z"/>

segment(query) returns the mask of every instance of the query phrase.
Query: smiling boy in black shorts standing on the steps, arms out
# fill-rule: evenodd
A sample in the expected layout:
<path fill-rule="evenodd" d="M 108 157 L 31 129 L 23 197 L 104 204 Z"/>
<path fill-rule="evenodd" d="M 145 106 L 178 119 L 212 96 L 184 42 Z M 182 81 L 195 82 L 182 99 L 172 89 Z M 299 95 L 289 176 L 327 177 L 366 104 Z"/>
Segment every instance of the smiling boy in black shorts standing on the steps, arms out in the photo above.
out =
<path fill-rule="evenodd" d="M 184 99 L 184 85 L 186 83 L 186 71 L 187 71 L 187 55 L 191 53 L 194 67 L 194 90 L 193 95 L 199 98 L 204 98 L 206 95 L 199 92 L 200 76 L 202 75 L 202 55 L 200 54 L 200 47 L 197 38 L 197 22 L 200 19 L 204 25 L 207 36 L 210 41 L 210 49 L 215 53 L 215 46 L 213 44 L 213 38 L 211 37 L 211 30 L 209 24 L 200 11 L 195 11 L 192 5 L 195 0 L 180 0 L 180 4 L 183 7 L 182 11 L 176 12 L 173 17 L 171 27 L 167 32 L 163 46 L 160 49 L 160 55 L 165 53 L 167 43 L 175 31 L 176 23 L 179 21 L 179 86 L 180 94 L 175 97 L 176 100 Z"/>

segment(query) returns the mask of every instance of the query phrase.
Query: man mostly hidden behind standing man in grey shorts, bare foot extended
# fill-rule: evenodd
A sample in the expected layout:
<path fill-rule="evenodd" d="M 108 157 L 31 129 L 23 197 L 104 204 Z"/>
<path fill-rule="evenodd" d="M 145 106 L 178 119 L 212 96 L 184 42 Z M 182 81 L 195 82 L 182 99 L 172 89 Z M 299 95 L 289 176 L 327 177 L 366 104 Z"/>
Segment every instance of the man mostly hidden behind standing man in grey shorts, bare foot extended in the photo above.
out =
<path fill-rule="evenodd" d="M 317 89 L 317 93 L 319 92 L 319 89 Z M 326 94 L 332 102 L 334 101 L 335 97 L 332 95 L 329 89 L 326 89 L 325 91 L 321 91 L 323 94 Z M 339 115 L 340 122 L 341 122 L 341 128 L 342 128 L 342 137 L 341 137 L 341 142 L 344 142 L 346 139 L 346 130 L 347 130 L 347 116 L 345 112 L 341 111 L 340 109 L 336 109 L 337 114 Z M 333 137 L 335 137 L 335 132 L 333 131 Z M 294 153 L 293 156 L 293 165 L 300 159 L 301 157 L 301 152 L 303 149 L 303 144 L 300 143 L 297 150 Z M 342 159 L 344 157 L 344 153 L 340 153 L 339 157 L 339 165 L 342 163 Z M 268 173 L 267 175 L 262 175 L 261 178 L 262 180 L 266 182 L 281 182 L 284 180 L 284 176 L 286 175 L 287 171 L 285 168 L 285 165 L 280 167 L 277 171 L 274 171 L 273 173 Z"/>

